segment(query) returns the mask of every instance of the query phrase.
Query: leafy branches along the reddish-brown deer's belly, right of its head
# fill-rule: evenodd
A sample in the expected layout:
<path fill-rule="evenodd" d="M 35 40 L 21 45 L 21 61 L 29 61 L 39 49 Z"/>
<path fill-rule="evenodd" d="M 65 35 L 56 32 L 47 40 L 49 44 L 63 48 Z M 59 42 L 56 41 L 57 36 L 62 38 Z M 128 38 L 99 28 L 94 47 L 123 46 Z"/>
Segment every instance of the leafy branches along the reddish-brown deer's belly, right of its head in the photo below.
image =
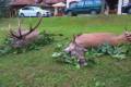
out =
<path fill-rule="evenodd" d="M 126 59 L 130 57 L 131 45 L 124 44 L 119 46 L 110 46 L 109 44 L 104 44 L 97 48 L 87 49 L 86 57 L 97 58 L 100 55 L 110 55 L 111 58 L 117 58 L 118 60 Z"/>

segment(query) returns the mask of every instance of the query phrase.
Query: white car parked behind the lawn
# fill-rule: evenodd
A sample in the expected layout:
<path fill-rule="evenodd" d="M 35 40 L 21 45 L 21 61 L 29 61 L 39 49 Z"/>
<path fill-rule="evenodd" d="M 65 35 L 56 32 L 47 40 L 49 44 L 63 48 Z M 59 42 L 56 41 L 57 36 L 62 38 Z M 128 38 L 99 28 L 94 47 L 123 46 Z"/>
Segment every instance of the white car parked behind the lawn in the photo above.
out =
<path fill-rule="evenodd" d="M 39 7 L 25 7 L 19 10 L 19 16 L 51 16 L 51 12 Z"/>

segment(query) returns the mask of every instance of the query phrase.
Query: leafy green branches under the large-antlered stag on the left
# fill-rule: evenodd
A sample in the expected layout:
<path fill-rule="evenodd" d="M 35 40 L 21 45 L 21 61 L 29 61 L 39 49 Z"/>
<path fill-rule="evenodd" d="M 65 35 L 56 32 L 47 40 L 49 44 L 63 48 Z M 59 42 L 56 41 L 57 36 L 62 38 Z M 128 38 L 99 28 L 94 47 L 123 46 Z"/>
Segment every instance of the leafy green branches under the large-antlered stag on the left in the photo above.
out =
<path fill-rule="evenodd" d="M 13 48 L 11 46 L 12 38 L 7 37 L 3 44 L 0 46 L 0 55 L 4 55 L 8 53 L 24 53 L 31 50 L 39 50 L 40 47 L 53 42 L 53 37 L 51 34 L 43 32 L 39 34 L 39 36 L 40 37 L 37 40 L 22 48 Z"/>

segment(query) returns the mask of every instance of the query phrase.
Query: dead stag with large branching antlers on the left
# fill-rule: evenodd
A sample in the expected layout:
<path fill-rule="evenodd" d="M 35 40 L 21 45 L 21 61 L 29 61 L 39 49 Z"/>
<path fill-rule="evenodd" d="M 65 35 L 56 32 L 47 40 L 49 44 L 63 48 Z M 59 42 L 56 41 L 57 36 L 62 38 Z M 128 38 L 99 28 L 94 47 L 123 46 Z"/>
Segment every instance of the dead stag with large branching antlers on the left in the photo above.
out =
<path fill-rule="evenodd" d="M 10 36 L 12 38 L 12 47 L 14 48 L 21 48 L 24 46 L 27 46 L 28 44 L 35 41 L 38 37 L 39 37 L 39 33 L 37 30 L 37 27 L 39 26 L 39 24 L 41 23 L 41 18 L 39 18 L 38 23 L 32 27 L 32 25 L 29 26 L 29 29 L 23 30 L 21 28 L 21 22 L 19 20 L 19 29 L 16 32 L 13 32 L 10 26 Z"/>

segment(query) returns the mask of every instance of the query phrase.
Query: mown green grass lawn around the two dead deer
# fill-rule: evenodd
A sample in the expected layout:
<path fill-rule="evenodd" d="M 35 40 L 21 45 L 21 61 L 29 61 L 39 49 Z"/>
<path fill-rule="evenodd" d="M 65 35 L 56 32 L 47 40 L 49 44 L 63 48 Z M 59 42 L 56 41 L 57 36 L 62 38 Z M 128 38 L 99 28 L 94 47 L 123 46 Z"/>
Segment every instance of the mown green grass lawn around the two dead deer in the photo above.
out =
<path fill-rule="evenodd" d="M 37 18 L 22 18 L 23 28 Z M 16 28 L 16 18 L 0 18 L 0 44 L 8 35 L 8 24 Z M 39 32 L 63 34 L 52 45 L 38 51 L 8 54 L 0 58 L 0 87 L 131 87 L 131 59 L 118 61 L 98 58 L 97 63 L 76 70 L 56 62 L 51 54 L 56 44 L 68 42 L 80 33 L 112 32 L 121 34 L 131 28 L 131 16 L 78 16 L 48 17 L 43 20 Z M 68 38 L 68 39 L 64 39 Z"/>

